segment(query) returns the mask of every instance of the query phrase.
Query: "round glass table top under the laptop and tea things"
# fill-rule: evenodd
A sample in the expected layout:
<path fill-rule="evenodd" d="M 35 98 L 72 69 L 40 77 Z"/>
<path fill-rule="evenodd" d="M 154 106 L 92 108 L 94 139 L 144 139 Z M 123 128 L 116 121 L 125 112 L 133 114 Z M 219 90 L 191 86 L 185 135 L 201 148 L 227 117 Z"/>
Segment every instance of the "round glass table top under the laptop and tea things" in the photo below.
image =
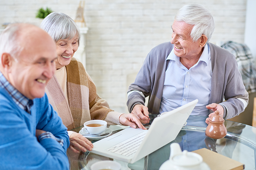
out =
<path fill-rule="evenodd" d="M 151 122 L 156 115 L 150 115 Z M 225 120 L 227 135 L 222 139 L 211 139 L 206 136 L 205 130 L 207 124 L 206 117 L 189 116 L 187 124 L 182 127 L 180 133 L 174 141 L 161 147 L 155 152 L 147 155 L 143 159 L 130 164 L 119 160 L 114 160 L 122 165 L 122 170 L 151 170 L 159 169 L 163 162 L 170 157 L 170 144 L 178 143 L 181 150 L 194 151 L 197 149 L 207 148 L 221 155 L 234 159 L 245 165 L 247 170 L 255 170 L 256 167 L 256 128 L 245 124 Z M 79 133 L 83 126 L 72 131 Z M 123 130 L 125 126 L 108 125 L 113 134 Z M 150 127 L 150 123 L 145 127 Z M 92 142 L 95 142 L 92 141 Z M 157 140 L 156 140 L 157 142 Z M 90 153 L 89 151 L 75 154 L 67 150 L 71 170 L 90 170 L 90 166 L 97 161 L 113 160 L 112 158 Z"/>

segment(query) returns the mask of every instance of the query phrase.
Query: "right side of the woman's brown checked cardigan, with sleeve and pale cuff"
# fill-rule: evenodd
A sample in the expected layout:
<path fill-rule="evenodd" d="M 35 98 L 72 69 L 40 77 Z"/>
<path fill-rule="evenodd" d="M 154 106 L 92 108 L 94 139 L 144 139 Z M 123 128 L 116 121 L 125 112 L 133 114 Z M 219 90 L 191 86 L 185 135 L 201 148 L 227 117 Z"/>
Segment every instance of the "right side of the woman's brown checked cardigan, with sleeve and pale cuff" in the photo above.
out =
<path fill-rule="evenodd" d="M 108 119 L 118 123 L 120 113 L 109 108 L 109 104 L 97 94 L 96 86 L 81 62 L 72 58 L 66 66 L 68 100 L 75 126 L 91 119 Z M 83 114 L 81 114 L 81 112 Z M 109 112 L 111 115 L 108 116 Z M 114 115 L 114 114 L 116 115 Z M 89 117 L 90 116 L 90 117 Z"/>

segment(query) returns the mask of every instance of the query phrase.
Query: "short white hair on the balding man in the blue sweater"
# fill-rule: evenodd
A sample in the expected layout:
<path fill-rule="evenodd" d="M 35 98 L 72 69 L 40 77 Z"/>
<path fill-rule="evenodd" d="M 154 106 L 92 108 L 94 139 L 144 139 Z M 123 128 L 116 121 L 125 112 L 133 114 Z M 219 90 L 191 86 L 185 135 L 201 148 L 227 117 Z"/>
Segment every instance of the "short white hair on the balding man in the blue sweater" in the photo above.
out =
<path fill-rule="evenodd" d="M 10 24 L 0 33 L 0 56 L 10 54 L 14 59 L 23 50 L 18 38 L 20 24 Z"/>

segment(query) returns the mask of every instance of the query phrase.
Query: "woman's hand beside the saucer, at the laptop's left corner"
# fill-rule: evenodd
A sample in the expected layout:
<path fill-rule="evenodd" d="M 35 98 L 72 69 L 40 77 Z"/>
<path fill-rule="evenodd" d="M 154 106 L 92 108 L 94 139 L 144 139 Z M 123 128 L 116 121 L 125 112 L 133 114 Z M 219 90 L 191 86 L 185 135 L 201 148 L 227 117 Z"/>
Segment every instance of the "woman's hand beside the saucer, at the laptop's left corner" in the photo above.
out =
<path fill-rule="evenodd" d="M 69 137 L 69 141 L 69 149 L 75 153 L 79 153 L 80 151 L 86 152 L 86 149 L 91 151 L 93 148 L 93 144 L 91 143 L 91 141 L 76 132 L 71 134 L 71 136 Z"/>

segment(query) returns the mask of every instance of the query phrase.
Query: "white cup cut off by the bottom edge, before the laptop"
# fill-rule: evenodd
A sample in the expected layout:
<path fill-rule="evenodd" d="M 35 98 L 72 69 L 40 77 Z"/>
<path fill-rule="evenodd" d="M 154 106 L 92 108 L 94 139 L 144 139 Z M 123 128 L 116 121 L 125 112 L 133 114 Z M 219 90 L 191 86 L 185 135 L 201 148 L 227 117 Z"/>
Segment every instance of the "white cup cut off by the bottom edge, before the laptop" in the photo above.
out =
<path fill-rule="evenodd" d="M 91 165 L 91 170 L 121 170 L 121 164 L 115 161 L 98 161 Z"/>

